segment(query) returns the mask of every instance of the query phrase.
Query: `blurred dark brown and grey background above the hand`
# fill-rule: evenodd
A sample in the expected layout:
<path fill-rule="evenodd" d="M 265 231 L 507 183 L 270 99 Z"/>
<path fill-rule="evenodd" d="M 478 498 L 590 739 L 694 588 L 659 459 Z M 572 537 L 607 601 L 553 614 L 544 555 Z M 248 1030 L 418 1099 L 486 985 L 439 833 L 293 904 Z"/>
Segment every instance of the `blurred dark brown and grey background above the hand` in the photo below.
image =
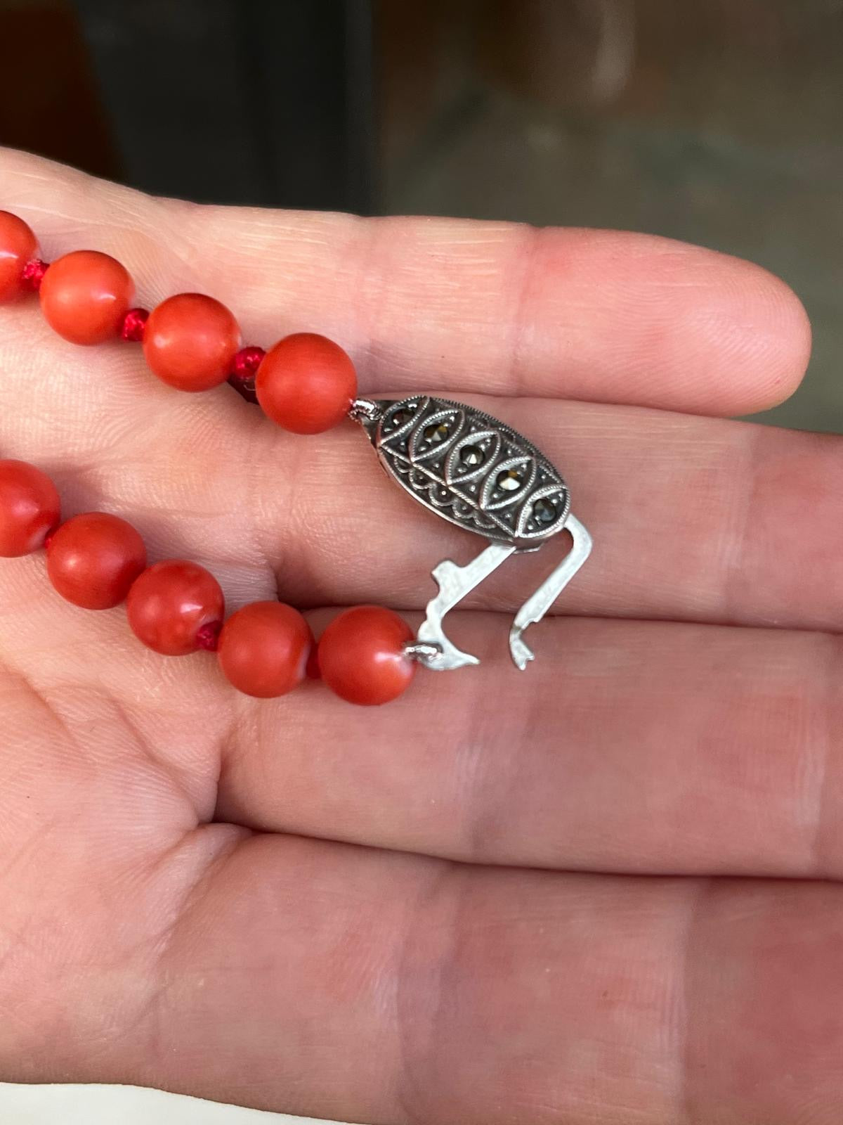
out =
<path fill-rule="evenodd" d="M 843 432 L 843 0 L 0 0 L 0 143 L 217 202 L 615 226 L 780 273 Z"/>

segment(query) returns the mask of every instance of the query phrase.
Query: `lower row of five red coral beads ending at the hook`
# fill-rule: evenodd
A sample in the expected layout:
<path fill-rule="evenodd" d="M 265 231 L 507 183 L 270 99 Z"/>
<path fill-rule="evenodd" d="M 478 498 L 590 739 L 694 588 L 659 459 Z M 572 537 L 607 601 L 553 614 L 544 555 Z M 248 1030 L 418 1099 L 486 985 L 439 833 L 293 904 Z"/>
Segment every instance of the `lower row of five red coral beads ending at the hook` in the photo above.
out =
<path fill-rule="evenodd" d="M 305 678 L 314 639 L 298 610 L 255 602 L 223 624 L 223 591 L 205 567 L 184 559 L 147 567 L 143 539 L 117 515 L 60 519 L 58 493 L 46 474 L 24 461 L 0 461 L 0 555 L 46 547 L 47 575 L 65 601 L 87 610 L 125 601 L 129 627 L 147 648 L 164 656 L 217 650 L 228 682 L 247 695 L 285 695 Z M 317 664 L 343 699 L 386 703 L 413 677 L 409 638 L 390 610 L 346 610 L 325 630 Z"/>

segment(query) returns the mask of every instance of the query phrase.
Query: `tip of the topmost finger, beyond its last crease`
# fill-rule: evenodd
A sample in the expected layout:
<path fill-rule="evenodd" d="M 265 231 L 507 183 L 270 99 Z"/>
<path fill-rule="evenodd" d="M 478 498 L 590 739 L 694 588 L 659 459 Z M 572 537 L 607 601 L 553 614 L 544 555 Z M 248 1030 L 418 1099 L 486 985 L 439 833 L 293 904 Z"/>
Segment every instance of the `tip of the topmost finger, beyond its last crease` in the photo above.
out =
<path fill-rule="evenodd" d="M 729 416 L 783 400 L 805 374 L 805 309 L 752 262 L 658 235 L 547 230 L 529 267 L 517 374 L 535 395 Z"/>

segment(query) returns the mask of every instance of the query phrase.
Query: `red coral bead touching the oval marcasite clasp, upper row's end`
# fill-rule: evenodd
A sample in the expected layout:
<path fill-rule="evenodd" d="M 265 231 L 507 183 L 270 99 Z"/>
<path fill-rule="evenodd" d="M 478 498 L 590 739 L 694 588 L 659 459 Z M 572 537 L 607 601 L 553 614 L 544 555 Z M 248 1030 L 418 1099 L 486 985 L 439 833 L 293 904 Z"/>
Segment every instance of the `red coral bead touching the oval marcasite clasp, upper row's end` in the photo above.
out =
<path fill-rule="evenodd" d="M 261 407 L 292 433 L 321 433 L 342 422 L 357 394 L 357 375 L 339 344 L 311 332 L 279 340 L 255 376 Z"/>

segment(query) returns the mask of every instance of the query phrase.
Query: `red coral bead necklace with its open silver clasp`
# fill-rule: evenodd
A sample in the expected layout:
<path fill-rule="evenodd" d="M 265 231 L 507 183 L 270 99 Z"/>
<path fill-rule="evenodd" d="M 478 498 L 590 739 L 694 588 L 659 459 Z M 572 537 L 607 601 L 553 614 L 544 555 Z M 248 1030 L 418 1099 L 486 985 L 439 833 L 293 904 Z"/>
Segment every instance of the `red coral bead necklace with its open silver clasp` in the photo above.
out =
<path fill-rule="evenodd" d="M 248 695 L 283 695 L 309 672 L 352 703 L 378 704 L 400 695 L 418 664 L 436 672 L 477 664 L 445 636 L 445 614 L 510 555 L 566 529 L 573 546 L 510 630 L 517 667 L 533 659 L 522 633 L 586 561 L 591 540 L 571 514 L 561 476 L 526 438 L 446 399 L 357 398 L 354 364 L 325 336 L 300 332 L 269 351 L 244 348 L 237 321 L 214 297 L 178 294 L 146 312 L 133 307 L 132 278 L 108 254 L 76 250 L 47 264 L 37 252 L 27 224 L 0 212 L 0 303 L 37 291 L 65 340 L 140 343 L 149 369 L 171 387 L 202 392 L 228 381 L 293 433 L 321 433 L 352 417 L 414 500 L 489 543 L 466 566 L 445 560 L 434 569 L 438 594 L 415 637 L 391 610 L 361 605 L 339 613 L 318 646 L 298 610 L 280 602 L 254 602 L 225 619 L 223 591 L 205 567 L 184 559 L 147 566 L 140 536 L 119 516 L 89 512 L 62 522 L 53 482 L 22 461 L 0 460 L 0 556 L 46 548 L 49 580 L 69 602 L 89 610 L 125 602 L 144 645 L 164 656 L 216 651 L 224 675 Z"/>

